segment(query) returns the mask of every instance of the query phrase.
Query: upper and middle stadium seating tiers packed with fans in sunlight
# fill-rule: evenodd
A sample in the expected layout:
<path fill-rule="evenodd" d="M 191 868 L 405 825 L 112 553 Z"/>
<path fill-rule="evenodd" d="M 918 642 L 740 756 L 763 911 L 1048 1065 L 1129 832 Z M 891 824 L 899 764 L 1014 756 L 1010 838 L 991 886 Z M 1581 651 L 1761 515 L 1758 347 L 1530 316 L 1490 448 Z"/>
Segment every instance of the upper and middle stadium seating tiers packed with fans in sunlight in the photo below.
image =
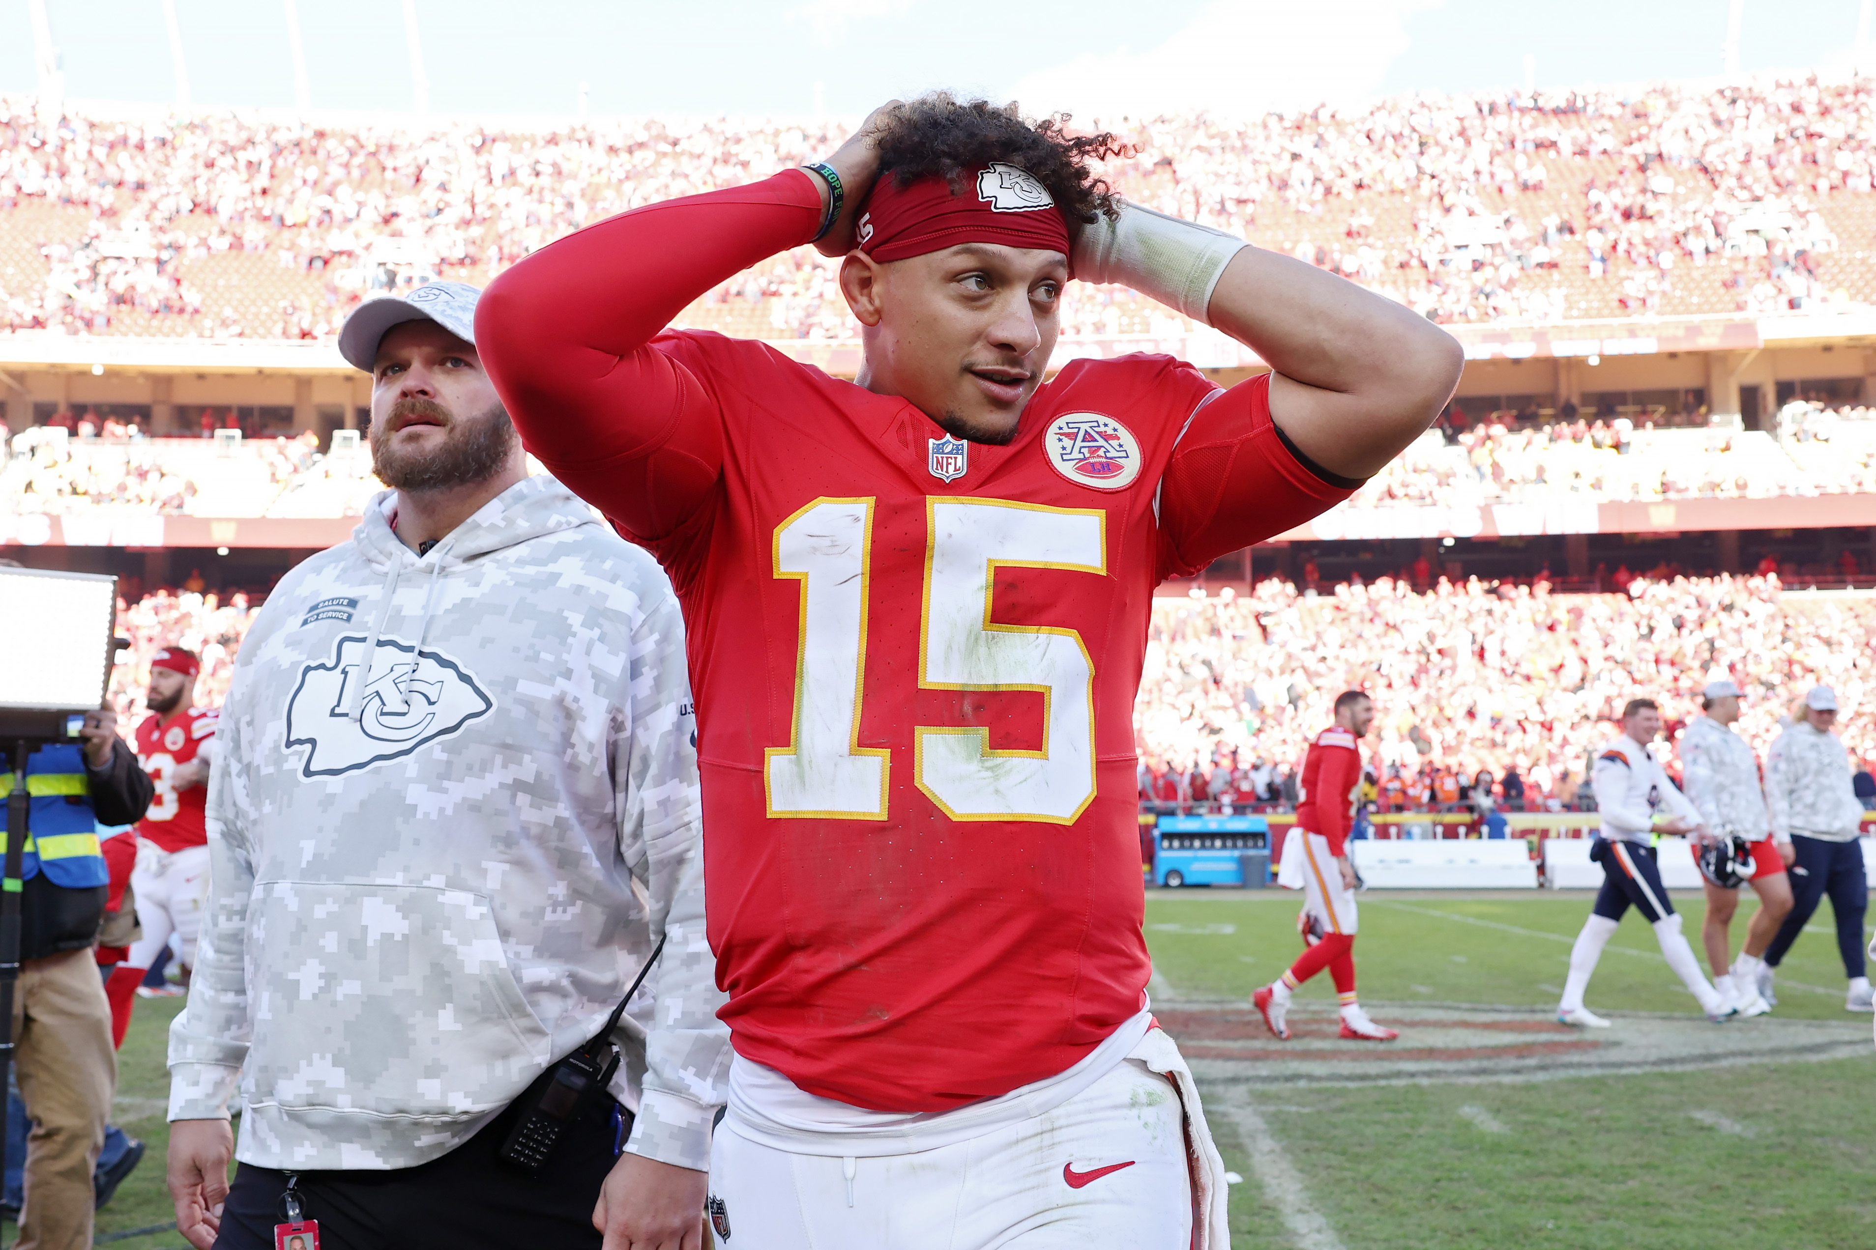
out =
<path fill-rule="evenodd" d="M 1807 412 L 1867 418 L 1876 397 L 1872 94 L 1872 79 L 1807 79 L 1122 120 L 1137 152 L 1107 174 L 1467 343 L 1448 427 L 1463 437 L 1416 446 L 1293 542 L 1861 527 L 1876 523 L 1872 425 L 1816 429 Z M 332 347 L 351 307 L 433 275 L 486 281 L 587 221 L 762 176 L 840 131 L 407 131 L 0 99 L 8 425 L 167 437 L 15 442 L 0 542 L 146 545 L 152 517 L 171 519 L 167 545 L 332 542 L 370 491 L 362 459 L 274 439 L 323 448 L 362 424 L 364 379 Z M 833 274 L 797 249 L 679 320 L 850 371 Z M 1221 380 L 1257 364 L 1131 292 L 1069 289 L 1058 360 L 1141 349 Z M 201 425 L 238 425 L 248 450 L 173 442 Z"/>

